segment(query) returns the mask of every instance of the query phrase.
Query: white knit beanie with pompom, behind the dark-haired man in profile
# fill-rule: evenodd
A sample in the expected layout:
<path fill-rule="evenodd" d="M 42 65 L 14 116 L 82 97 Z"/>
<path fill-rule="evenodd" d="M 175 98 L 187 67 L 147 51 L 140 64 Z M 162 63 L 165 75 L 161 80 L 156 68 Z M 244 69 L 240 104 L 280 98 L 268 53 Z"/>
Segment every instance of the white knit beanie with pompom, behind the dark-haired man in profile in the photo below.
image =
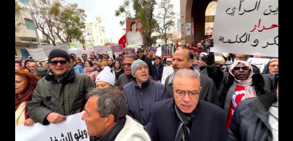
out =
<path fill-rule="evenodd" d="M 110 72 L 110 67 L 105 67 L 103 71 L 101 71 L 97 78 L 96 78 L 96 82 L 97 81 L 104 81 L 107 82 L 109 84 L 111 84 L 112 86 L 115 85 L 115 76 L 113 73 Z"/>

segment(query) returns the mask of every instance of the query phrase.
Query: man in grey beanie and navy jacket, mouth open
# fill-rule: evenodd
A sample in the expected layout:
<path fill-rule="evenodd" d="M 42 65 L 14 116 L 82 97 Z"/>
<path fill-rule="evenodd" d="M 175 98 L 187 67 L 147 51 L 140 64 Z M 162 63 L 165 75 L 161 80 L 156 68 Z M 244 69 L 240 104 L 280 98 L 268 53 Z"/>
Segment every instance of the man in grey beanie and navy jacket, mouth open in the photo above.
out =
<path fill-rule="evenodd" d="M 135 79 L 124 86 L 123 93 L 131 115 L 145 126 L 151 119 L 152 105 L 167 99 L 165 86 L 149 79 L 149 67 L 142 60 L 132 62 L 131 74 Z"/>

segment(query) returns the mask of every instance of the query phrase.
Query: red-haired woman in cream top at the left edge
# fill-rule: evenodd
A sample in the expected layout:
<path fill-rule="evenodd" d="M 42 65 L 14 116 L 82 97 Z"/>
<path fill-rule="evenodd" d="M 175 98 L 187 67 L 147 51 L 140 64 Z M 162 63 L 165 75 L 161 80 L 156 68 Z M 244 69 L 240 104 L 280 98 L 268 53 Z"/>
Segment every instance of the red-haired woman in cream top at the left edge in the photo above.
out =
<path fill-rule="evenodd" d="M 35 123 L 28 116 L 26 105 L 32 100 L 38 80 L 38 76 L 32 73 L 15 71 L 15 126 L 32 126 Z"/>

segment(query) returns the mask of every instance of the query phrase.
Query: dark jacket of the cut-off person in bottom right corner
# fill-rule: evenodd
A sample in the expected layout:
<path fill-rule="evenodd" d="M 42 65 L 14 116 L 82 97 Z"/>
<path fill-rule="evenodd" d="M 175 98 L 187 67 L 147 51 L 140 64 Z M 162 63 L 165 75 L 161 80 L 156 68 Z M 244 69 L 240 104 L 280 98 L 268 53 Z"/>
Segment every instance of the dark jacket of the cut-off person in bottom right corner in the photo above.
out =
<path fill-rule="evenodd" d="M 276 101 L 276 90 L 273 90 L 258 98 L 248 98 L 240 102 L 227 133 L 228 141 L 272 141 L 269 109 Z"/>

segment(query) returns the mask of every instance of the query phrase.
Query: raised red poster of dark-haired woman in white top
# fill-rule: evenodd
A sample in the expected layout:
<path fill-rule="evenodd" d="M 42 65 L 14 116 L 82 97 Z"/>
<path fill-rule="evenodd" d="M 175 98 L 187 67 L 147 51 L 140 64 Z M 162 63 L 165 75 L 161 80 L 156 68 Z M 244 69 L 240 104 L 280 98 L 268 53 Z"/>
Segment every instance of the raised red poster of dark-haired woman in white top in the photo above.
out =
<path fill-rule="evenodd" d="M 142 20 L 126 20 L 126 45 L 143 45 Z"/>

